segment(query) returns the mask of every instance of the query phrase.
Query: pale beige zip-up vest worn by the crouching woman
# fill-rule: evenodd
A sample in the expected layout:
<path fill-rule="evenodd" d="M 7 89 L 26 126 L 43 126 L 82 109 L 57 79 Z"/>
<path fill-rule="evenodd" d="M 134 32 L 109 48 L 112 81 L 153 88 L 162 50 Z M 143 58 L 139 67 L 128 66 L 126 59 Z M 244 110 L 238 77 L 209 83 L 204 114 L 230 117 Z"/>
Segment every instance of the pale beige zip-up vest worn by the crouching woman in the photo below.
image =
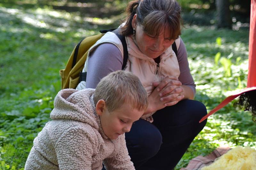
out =
<path fill-rule="evenodd" d="M 161 82 L 166 76 L 170 75 L 177 78 L 180 76 L 179 63 L 174 51 L 172 50 L 172 46 L 167 48 L 167 50 L 160 55 L 160 63 L 157 69 L 157 63 L 154 59 L 144 55 L 135 44 L 133 35 L 127 36 L 125 39 L 128 50 L 128 61 L 124 70 L 130 71 L 138 76 L 148 95 L 150 95 L 154 90 L 154 86 L 152 85 L 153 82 Z M 98 40 L 89 50 L 88 56 L 90 57 L 90 52 L 102 43 L 114 44 L 120 50 L 122 56 L 124 56 L 122 43 L 116 34 L 112 32 L 107 32 L 100 40 Z M 180 38 L 177 39 L 175 43 L 178 49 L 180 45 Z M 87 72 L 87 63 L 88 57 L 84 64 L 83 72 Z M 78 84 L 76 89 L 84 89 L 85 86 L 86 82 L 82 81 Z M 151 117 L 152 114 L 153 113 L 143 115 L 142 118 L 153 122 Z"/>

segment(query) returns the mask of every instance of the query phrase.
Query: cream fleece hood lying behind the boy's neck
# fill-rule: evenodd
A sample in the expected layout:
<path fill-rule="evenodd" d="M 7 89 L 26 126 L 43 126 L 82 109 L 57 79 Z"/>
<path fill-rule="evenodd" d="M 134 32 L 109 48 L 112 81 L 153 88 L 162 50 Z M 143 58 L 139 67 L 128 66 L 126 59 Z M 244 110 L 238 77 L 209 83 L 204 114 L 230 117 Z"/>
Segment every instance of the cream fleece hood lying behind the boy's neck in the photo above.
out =
<path fill-rule="evenodd" d="M 93 93 L 95 89 L 64 89 L 54 99 L 51 119 L 69 119 L 88 123 L 99 129 L 100 119 L 95 111 Z"/>

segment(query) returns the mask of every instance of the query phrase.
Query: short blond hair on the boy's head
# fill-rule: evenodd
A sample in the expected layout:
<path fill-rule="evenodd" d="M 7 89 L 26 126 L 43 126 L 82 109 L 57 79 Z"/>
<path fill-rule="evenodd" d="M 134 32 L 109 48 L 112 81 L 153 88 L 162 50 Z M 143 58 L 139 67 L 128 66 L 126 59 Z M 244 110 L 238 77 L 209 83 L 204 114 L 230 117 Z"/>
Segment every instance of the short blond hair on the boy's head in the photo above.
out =
<path fill-rule="evenodd" d="M 148 107 L 148 95 L 139 78 L 128 71 L 115 71 L 100 80 L 94 92 L 95 105 L 105 100 L 108 111 L 129 104 L 139 111 Z"/>

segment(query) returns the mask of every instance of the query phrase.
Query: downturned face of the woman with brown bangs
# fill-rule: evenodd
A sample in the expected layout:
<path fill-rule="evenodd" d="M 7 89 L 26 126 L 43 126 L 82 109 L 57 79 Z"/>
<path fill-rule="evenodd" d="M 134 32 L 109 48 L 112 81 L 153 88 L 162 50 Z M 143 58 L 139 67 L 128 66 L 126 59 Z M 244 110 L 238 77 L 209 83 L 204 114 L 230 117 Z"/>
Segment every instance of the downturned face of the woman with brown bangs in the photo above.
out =
<path fill-rule="evenodd" d="M 135 39 L 137 46 L 140 51 L 147 55 L 149 58 L 157 58 L 161 55 L 167 48 L 169 48 L 174 40 L 169 39 L 169 32 L 162 28 L 159 36 L 153 37 L 144 32 L 143 27 L 136 21 L 137 14 L 134 15 L 132 20 L 132 27 L 135 28 Z M 164 31 L 166 32 L 164 33 Z M 165 35 L 165 37 L 164 37 Z"/>

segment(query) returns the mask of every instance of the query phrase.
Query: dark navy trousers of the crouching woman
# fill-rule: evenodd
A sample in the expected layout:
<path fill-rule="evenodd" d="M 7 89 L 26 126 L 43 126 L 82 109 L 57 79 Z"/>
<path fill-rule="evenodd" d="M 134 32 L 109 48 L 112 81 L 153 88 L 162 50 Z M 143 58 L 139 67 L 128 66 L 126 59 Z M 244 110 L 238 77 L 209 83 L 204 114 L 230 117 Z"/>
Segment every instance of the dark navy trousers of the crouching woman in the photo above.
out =
<path fill-rule="evenodd" d="M 126 145 L 136 170 L 171 170 L 204 128 L 207 114 L 204 104 L 181 100 L 174 106 L 158 110 L 154 122 L 138 120 L 125 133 Z"/>

